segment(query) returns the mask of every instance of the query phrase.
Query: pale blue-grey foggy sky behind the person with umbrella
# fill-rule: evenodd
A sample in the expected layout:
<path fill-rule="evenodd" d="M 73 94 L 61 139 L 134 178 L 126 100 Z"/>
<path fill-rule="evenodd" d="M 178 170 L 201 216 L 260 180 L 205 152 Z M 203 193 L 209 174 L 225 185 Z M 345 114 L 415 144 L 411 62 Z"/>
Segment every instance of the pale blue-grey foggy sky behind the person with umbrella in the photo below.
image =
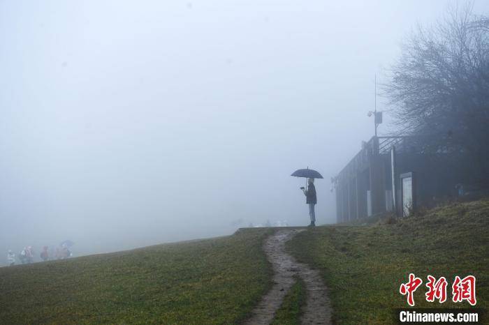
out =
<path fill-rule="evenodd" d="M 447 3 L 0 1 L 0 252 L 306 225 L 289 175 L 307 166 L 335 222 L 329 178 L 372 136 L 374 74 Z"/>

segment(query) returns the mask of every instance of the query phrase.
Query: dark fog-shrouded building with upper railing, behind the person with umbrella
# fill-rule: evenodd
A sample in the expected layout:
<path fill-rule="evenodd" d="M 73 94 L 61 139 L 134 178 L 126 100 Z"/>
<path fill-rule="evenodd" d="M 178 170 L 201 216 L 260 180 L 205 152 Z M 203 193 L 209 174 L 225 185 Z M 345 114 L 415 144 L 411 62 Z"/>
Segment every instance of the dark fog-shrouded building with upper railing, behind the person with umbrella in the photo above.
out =
<path fill-rule="evenodd" d="M 423 153 L 412 137 L 372 137 L 332 179 L 337 222 L 393 212 L 407 216 L 416 206 L 457 197 L 473 183 L 461 156 Z"/>

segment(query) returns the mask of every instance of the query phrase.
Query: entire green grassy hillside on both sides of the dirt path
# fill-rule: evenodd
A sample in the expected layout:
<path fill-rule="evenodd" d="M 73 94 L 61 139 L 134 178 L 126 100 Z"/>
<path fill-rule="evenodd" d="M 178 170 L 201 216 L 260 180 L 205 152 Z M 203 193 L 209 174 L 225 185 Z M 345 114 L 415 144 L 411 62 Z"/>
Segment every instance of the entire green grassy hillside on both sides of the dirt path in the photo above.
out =
<path fill-rule="evenodd" d="M 311 228 L 287 243 L 321 271 L 335 323 L 393 323 L 409 273 L 423 280 L 416 307 L 470 308 L 449 301 L 454 276 L 472 274 L 487 310 L 489 200 L 396 220 Z M 0 324 L 239 324 L 272 285 L 261 250 L 272 231 L 0 268 Z M 425 301 L 428 274 L 448 280 L 443 305 Z M 296 282 L 274 324 L 298 324 L 305 295 Z"/>

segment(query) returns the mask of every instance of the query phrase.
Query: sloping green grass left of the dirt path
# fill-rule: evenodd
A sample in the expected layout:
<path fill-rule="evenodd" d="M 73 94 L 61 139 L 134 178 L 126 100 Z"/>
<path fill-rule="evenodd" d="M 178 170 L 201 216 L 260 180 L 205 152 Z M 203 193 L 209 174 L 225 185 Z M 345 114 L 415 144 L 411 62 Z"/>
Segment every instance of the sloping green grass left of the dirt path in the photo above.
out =
<path fill-rule="evenodd" d="M 0 268 L 0 323 L 237 323 L 270 288 L 268 234 Z"/>

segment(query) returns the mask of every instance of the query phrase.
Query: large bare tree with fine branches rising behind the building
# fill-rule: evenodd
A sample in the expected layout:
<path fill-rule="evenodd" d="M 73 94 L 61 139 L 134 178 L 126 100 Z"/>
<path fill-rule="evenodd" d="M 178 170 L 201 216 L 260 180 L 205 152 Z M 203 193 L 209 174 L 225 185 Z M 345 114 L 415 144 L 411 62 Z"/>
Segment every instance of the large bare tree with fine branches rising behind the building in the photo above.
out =
<path fill-rule="evenodd" d="M 384 95 L 423 151 L 464 154 L 489 177 L 489 18 L 472 3 L 405 40 Z"/>

